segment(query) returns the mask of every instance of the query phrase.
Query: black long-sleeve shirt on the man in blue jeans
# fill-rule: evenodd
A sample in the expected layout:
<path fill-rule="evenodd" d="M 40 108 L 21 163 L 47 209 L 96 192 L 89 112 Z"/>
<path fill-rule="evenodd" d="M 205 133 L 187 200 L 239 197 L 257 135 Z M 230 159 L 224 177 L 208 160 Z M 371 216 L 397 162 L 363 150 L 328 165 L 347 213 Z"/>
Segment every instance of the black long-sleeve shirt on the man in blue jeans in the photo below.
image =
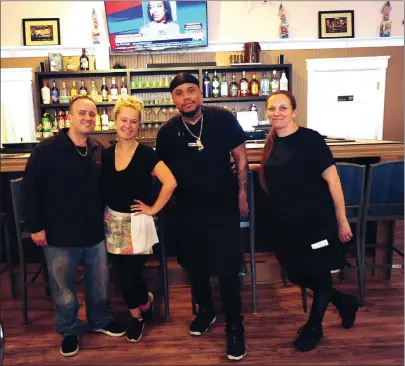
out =
<path fill-rule="evenodd" d="M 21 191 L 31 233 L 46 231 L 48 245 L 90 246 L 104 239 L 100 192 L 103 146 L 89 138 L 83 156 L 63 129 L 32 152 Z"/>

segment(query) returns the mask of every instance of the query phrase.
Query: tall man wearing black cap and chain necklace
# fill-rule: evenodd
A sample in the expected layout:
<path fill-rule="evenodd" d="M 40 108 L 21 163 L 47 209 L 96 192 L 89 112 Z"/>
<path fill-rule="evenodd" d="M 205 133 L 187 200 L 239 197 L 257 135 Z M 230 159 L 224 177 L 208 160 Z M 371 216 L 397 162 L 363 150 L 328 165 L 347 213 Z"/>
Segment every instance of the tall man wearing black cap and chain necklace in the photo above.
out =
<path fill-rule="evenodd" d="M 216 320 L 210 276 L 218 276 L 226 319 L 227 355 L 246 354 L 238 272 L 240 218 L 247 217 L 245 134 L 223 108 L 203 107 L 198 80 L 180 73 L 170 84 L 180 114 L 159 131 L 156 150 L 177 180 L 176 244 L 199 307 L 190 333 L 203 335 Z M 238 179 L 232 172 L 230 153 Z"/>

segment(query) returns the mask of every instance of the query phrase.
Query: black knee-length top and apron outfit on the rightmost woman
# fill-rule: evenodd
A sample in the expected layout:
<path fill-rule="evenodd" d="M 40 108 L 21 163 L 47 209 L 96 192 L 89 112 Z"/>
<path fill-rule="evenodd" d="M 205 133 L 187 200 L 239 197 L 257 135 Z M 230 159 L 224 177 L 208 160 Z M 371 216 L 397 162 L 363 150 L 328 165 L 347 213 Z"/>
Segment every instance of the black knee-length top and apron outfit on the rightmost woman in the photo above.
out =
<path fill-rule="evenodd" d="M 271 244 L 287 270 L 325 272 L 344 266 L 335 207 L 322 178 L 333 164 L 329 147 L 316 131 L 300 127 L 289 136 L 275 137 L 265 179 Z M 323 240 L 328 245 L 313 248 Z"/>

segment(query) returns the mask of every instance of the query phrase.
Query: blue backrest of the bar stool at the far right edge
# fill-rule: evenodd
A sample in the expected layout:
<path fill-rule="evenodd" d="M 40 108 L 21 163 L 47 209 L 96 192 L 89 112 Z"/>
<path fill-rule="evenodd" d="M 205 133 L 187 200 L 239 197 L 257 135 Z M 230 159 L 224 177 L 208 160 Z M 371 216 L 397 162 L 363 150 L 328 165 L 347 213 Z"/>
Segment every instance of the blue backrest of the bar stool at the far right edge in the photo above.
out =
<path fill-rule="evenodd" d="M 371 164 L 367 178 L 364 214 L 366 218 L 404 217 L 404 161 Z"/>

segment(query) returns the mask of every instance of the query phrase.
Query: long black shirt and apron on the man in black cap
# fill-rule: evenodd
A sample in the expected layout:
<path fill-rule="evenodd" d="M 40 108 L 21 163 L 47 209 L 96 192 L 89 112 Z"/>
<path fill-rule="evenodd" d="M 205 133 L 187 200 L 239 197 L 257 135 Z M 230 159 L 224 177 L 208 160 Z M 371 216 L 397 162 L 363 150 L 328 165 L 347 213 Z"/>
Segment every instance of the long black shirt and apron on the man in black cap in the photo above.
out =
<path fill-rule="evenodd" d="M 201 121 L 188 125 L 199 136 Z M 230 151 L 245 141 L 235 117 L 223 108 L 205 107 L 202 143 L 180 116 L 159 131 L 156 150 L 177 180 L 176 251 L 179 264 L 209 275 L 238 273 L 241 264 L 238 184 Z"/>

